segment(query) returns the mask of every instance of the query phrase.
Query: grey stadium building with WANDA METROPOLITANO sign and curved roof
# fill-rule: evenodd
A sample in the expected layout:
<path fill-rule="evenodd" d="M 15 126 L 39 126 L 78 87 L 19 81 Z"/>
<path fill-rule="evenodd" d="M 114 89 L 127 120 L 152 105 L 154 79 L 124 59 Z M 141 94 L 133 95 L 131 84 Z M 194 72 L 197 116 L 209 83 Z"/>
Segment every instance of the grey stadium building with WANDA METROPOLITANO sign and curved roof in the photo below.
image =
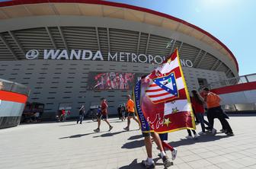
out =
<path fill-rule="evenodd" d="M 0 2 L 0 78 L 29 87 L 45 117 L 77 116 L 101 97 L 116 114 L 136 78 L 176 48 L 189 90 L 238 76 L 227 46 L 168 14 L 97 0 Z"/>

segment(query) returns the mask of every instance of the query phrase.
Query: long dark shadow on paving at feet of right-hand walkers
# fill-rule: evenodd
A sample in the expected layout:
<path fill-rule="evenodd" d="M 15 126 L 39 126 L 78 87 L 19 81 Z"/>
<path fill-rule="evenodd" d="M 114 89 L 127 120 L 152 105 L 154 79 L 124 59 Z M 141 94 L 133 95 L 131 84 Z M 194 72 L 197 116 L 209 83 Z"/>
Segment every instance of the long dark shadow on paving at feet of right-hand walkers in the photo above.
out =
<path fill-rule="evenodd" d="M 224 139 L 229 136 L 200 136 L 198 139 L 181 139 L 177 142 L 169 142 L 169 144 L 173 147 L 178 147 L 181 145 L 193 145 L 197 142 L 213 142 L 218 139 Z"/>

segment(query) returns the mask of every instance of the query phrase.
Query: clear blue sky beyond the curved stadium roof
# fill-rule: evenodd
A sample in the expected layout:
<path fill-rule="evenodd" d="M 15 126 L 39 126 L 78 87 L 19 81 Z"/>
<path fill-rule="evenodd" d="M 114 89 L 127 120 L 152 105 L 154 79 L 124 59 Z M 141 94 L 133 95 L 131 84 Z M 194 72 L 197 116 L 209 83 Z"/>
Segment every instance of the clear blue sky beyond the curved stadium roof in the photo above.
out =
<path fill-rule="evenodd" d="M 234 53 L 239 75 L 256 73 L 254 0 L 108 0 L 181 18 L 218 38 Z M 0 0 L 2 2 L 2 0 Z"/>

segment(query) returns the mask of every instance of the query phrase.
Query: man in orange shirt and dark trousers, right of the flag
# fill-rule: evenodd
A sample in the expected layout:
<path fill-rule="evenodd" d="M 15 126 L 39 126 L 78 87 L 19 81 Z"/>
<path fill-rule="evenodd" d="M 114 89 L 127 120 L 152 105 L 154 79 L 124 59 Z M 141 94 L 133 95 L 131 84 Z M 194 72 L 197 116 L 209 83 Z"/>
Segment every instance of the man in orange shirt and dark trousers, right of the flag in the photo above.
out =
<path fill-rule="evenodd" d="M 207 118 L 209 120 L 209 127 L 212 129 L 213 135 L 216 134 L 216 129 L 213 128 L 214 119 L 218 118 L 222 124 L 222 129 L 226 129 L 226 135 L 234 136 L 229 122 L 225 118 L 225 113 L 220 107 L 220 97 L 217 94 L 209 91 L 209 88 L 203 88 L 203 97 L 207 104 Z"/>

